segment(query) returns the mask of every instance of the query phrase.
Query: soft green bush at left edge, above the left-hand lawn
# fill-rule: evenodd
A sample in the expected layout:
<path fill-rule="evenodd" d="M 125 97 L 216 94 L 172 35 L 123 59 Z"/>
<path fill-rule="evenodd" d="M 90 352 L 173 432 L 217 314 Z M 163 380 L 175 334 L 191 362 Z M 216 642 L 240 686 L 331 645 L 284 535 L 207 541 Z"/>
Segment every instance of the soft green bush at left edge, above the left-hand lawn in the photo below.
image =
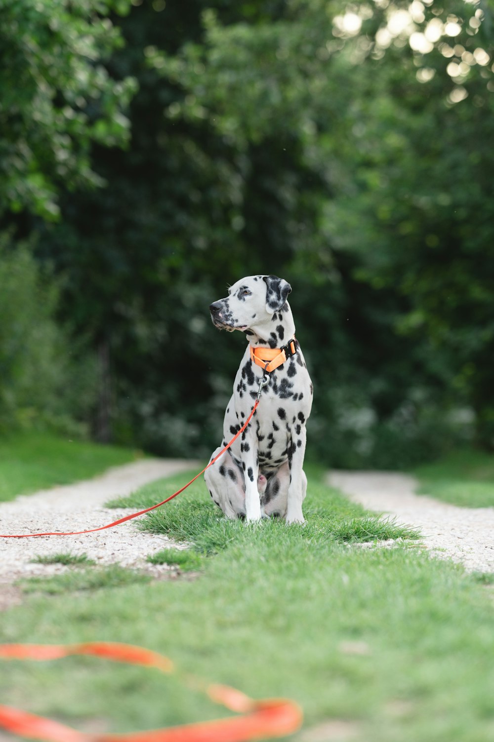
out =
<path fill-rule="evenodd" d="M 0 236 L 0 432 L 51 427 L 80 434 L 94 365 L 56 324 L 59 283 L 28 243 Z"/>

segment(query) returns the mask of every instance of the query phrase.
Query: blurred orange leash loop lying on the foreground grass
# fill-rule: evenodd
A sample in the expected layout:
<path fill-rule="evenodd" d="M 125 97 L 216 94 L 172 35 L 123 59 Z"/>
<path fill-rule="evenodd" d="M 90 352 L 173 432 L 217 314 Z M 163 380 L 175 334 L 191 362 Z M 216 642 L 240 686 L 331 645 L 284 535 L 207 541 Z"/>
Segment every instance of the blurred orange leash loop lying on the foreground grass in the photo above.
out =
<path fill-rule="evenodd" d="M 71 654 L 94 654 L 114 662 L 155 667 L 162 672 L 173 670 L 168 657 L 131 644 L 0 644 L 0 659 L 4 660 L 58 660 Z M 221 685 L 210 685 L 205 690 L 215 703 L 221 703 L 242 716 L 148 732 L 89 735 L 57 721 L 0 704 L 0 728 L 15 735 L 48 742 L 243 742 L 284 737 L 296 732 L 302 724 L 302 709 L 291 700 L 253 700 L 234 688 Z"/>

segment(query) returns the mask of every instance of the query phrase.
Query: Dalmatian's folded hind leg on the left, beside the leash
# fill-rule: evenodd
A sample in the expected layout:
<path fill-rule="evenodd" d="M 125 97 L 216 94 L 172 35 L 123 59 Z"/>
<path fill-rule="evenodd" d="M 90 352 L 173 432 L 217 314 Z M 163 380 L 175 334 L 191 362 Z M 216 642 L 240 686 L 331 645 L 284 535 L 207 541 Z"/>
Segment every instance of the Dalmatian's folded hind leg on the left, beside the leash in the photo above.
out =
<path fill-rule="evenodd" d="M 217 448 L 209 460 L 218 456 L 220 451 L 221 447 Z M 227 518 L 245 517 L 244 473 L 230 451 L 226 451 L 204 472 L 204 479 L 213 502 L 223 510 Z"/>

